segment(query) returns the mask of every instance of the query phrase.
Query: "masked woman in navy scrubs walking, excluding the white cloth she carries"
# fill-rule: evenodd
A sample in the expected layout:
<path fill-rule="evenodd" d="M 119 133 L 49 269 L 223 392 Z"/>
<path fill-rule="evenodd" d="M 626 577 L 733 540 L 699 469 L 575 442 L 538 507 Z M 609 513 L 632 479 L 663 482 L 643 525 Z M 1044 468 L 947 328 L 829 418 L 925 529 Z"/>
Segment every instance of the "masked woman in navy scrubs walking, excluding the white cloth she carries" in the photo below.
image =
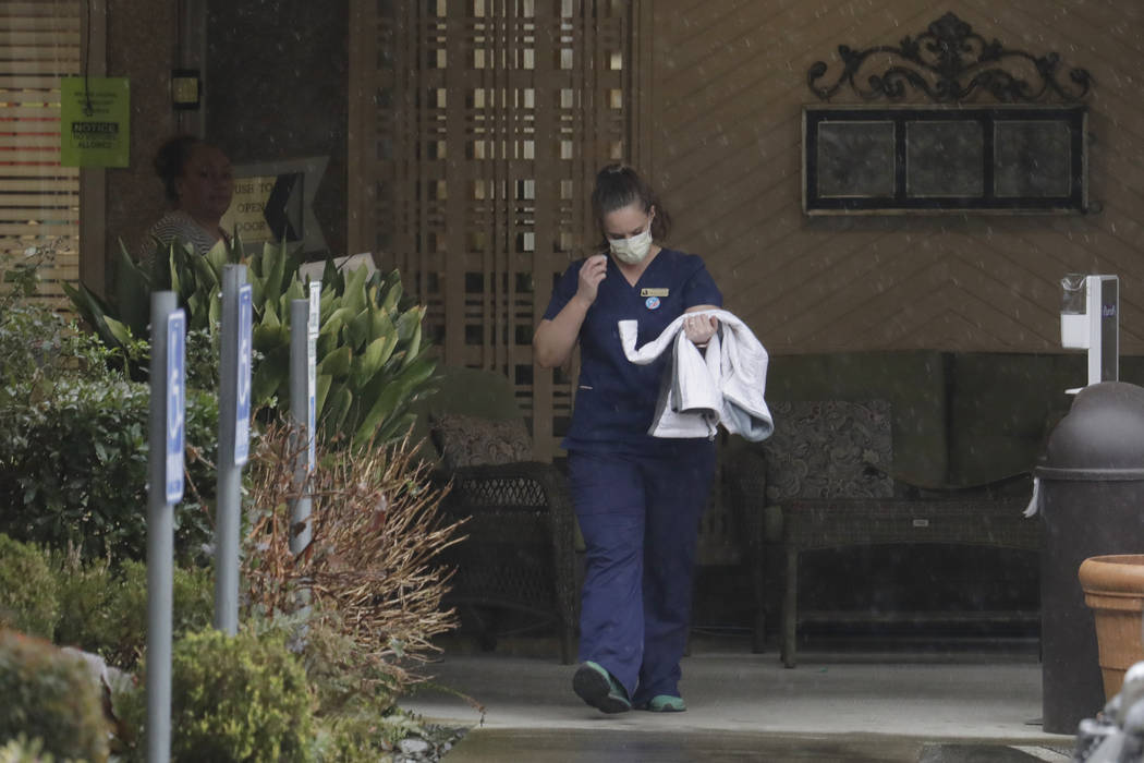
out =
<path fill-rule="evenodd" d="M 696 539 L 715 470 L 714 443 L 648 434 L 670 353 L 645 366 L 625 357 L 617 324 L 636 319 L 636 345 L 684 312 L 723 297 L 702 260 L 665 248 L 667 212 L 623 165 L 596 176 L 601 252 L 572 263 L 553 292 L 533 348 L 546 368 L 580 345 L 580 377 L 563 446 L 587 546 L 580 661 L 572 688 L 604 713 L 680 712 L 680 659 L 691 618 Z M 712 317 L 684 321 L 704 348 Z"/>

